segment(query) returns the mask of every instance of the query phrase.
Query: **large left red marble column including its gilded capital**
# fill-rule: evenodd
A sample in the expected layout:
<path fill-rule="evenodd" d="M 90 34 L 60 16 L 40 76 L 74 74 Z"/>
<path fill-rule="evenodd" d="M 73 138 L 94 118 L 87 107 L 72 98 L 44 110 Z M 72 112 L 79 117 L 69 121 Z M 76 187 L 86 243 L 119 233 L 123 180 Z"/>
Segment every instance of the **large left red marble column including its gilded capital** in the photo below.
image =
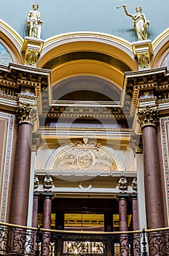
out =
<path fill-rule="evenodd" d="M 12 176 L 9 221 L 15 225 L 26 226 L 31 168 L 32 127 L 36 120 L 36 108 L 18 102 L 16 117 L 17 143 Z"/>

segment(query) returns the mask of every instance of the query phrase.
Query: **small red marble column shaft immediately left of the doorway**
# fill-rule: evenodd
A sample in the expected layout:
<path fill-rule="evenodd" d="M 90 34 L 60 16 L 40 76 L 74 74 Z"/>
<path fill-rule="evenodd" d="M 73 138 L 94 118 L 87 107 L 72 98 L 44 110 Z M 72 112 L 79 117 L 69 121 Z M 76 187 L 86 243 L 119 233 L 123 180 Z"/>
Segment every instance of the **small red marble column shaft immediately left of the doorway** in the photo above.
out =
<path fill-rule="evenodd" d="M 51 228 L 52 195 L 44 195 L 43 228 Z"/>

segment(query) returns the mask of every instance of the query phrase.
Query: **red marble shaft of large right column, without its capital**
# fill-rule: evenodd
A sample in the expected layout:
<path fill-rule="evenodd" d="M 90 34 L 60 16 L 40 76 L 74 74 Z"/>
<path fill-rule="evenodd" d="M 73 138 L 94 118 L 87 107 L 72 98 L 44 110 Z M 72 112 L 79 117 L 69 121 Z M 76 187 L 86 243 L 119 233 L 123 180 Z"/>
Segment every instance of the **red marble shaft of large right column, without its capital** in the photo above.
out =
<path fill-rule="evenodd" d="M 147 228 L 165 227 L 156 127 L 142 127 Z"/>

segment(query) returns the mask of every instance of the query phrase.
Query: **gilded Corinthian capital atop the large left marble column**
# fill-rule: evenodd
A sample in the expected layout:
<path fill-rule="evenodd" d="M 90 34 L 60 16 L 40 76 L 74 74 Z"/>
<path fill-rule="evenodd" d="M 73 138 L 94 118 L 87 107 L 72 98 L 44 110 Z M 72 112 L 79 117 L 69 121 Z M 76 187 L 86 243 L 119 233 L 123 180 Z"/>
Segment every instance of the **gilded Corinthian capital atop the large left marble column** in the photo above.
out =
<path fill-rule="evenodd" d="M 26 122 L 34 125 L 34 121 L 37 118 L 37 109 L 34 105 L 18 102 L 16 117 L 18 124 Z"/>

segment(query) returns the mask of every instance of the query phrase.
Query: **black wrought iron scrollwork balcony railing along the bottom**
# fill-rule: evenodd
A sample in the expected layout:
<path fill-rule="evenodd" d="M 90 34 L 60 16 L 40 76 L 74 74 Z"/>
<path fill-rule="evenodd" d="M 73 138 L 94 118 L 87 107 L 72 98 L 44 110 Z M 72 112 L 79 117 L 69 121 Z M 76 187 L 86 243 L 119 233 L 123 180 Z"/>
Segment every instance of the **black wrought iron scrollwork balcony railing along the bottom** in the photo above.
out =
<path fill-rule="evenodd" d="M 0 255 L 169 255 L 169 228 L 132 232 L 71 232 L 0 222 Z"/>

